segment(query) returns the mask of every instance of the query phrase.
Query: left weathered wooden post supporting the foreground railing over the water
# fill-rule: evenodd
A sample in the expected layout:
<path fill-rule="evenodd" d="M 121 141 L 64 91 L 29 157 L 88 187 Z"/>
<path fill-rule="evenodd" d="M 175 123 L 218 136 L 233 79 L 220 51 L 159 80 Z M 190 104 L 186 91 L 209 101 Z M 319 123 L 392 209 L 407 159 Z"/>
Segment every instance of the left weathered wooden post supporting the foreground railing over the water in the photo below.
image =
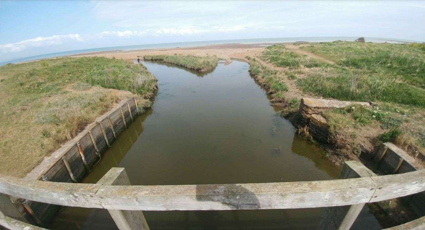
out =
<path fill-rule="evenodd" d="M 98 182 L 100 185 L 131 185 L 125 168 L 111 168 Z M 149 230 L 142 211 L 108 209 L 119 230 Z"/>

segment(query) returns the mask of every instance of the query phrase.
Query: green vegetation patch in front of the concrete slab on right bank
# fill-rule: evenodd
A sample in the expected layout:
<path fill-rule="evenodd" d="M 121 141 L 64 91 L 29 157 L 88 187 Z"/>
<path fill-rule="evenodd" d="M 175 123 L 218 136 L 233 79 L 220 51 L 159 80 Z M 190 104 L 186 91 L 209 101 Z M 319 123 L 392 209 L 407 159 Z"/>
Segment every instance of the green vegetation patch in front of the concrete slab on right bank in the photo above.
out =
<path fill-rule="evenodd" d="M 413 146 L 425 151 L 425 110 L 421 108 L 379 103 L 373 107 L 352 105 L 323 112 L 335 139 L 351 133 L 376 137 L 382 142 L 393 142 L 406 149 Z M 357 140 L 346 138 L 349 142 Z"/>

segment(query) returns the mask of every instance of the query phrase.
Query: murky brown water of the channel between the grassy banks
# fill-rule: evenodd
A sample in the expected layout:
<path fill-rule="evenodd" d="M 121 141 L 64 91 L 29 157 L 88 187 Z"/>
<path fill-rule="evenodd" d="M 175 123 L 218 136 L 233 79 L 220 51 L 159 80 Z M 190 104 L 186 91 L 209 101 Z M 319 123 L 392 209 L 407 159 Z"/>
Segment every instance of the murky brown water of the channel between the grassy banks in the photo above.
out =
<path fill-rule="evenodd" d="M 124 167 L 132 185 L 331 180 L 340 168 L 280 118 L 246 62 L 210 73 L 143 62 L 159 84 L 152 109 L 119 135 L 85 183 Z M 314 229 L 323 208 L 145 211 L 155 229 Z M 366 225 L 365 225 L 366 224 Z M 352 229 L 380 229 L 363 210 Z M 49 229 L 117 229 L 107 210 L 65 208 Z"/>

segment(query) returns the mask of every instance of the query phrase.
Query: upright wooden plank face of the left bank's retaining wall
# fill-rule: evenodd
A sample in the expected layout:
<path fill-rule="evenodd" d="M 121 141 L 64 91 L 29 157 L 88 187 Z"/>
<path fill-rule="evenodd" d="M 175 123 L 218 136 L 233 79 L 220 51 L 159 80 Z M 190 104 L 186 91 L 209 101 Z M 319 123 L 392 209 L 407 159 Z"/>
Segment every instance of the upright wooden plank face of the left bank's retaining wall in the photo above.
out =
<path fill-rule="evenodd" d="M 130 124 L 132 118 L 138 114 L 135 98 L 131 98 L 120 104 L 119 107 L 110 111 L 109 115 L 105 116 L 105 118 L 97 121 L 97 124 L 92 129 L 82 136 L 81 139 L 77 140 L 77 144 L 72 145 L 56 163 L 51 165 L 51 168 L 42 175 L 40 180 L 67 183 L 81 181 L 96 166 L 102 154 L 108 149 L 108 144 L 111 145 L 115 140 L 114 132 L 115 135 L 119 135 L 125 129 L 121 111 L 124 115 L 125 123 Z M 111 129 L 111 124 L 114 132 Z M 105 132 L 107 140 L 105 140 L 102 129 Z M 69 170 L 65 162 L 68 163 Z M 21 200 L 21 203 L 24 207 L 24 216 L 32 224 L 39 226 L 45 226 L 45 223 L 48 223 L 60 208 L 59 205 L 30 200 Z"/>

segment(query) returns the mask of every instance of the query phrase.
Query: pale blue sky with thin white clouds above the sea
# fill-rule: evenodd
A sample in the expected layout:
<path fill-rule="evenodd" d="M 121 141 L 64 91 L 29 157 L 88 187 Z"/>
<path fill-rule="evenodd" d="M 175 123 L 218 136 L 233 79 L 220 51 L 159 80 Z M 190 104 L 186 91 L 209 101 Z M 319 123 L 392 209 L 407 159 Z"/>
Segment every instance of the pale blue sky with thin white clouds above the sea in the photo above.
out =
<path fill-rule="evenodd" d="M 425 1 L 0 1 L 0 62 L 45 53 L 222 39 L 425 41 Z"/>

